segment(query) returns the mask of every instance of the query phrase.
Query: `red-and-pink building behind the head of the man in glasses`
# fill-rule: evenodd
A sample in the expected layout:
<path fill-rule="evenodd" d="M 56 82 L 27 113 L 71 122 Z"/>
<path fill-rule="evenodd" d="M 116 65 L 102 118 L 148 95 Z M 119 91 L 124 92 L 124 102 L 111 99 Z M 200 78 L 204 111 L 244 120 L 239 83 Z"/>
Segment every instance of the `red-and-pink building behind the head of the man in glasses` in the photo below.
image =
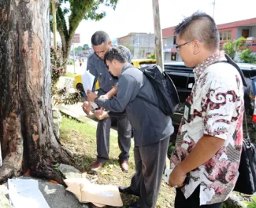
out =
<path fill-rule="evenodd" d="M 174 35 L 174 28 L 168 27 L 162 30 L 165 61 L 181 60 L 175 48 L 176 36 Z M 220 46 L 223 46 L 224 42 L 236 40 L 243 36 L 247 38 L 246 42 L 249 49 L 256 53 L 256 18 L 218 24 L 217 28 L 220 31 Z"/>

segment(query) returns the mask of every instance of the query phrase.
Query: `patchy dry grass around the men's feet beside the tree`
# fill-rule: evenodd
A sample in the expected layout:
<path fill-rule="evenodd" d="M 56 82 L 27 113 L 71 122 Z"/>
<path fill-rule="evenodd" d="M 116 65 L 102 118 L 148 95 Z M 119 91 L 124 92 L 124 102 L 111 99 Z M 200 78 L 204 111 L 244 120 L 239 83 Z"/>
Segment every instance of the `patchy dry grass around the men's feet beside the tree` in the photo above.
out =
<path fill-rule="evenodd" d="M 102 170 L 98 172 L 91 171 L 91 163 L 95 162 L 97 154 L 95 131 L 96 126 L 92 124 L 81 123 L 64 117 L 61 122 L 61 143 L 64 144 L 66 148 L 69 148 L 75 155 L 76 165 L 80 166 L 83 172 L 87 172 L 89 177 L 96 178 L 97 184 L 128 186 L 132 174 L 135 172 L 133 144 L 130 150 L 130 170 L 128 173 L 121 171 L 118 162 L 120 150 L 118 148 L 117 137 L 113 136 L 110 137 L 109 161 L 106 162 Z M 157 207 L 173 207 L 174 195 L 175 191 L 162 182 Z M 136 200 L 136 197 L 132 195 L 121 195 L 121 197 L 124 202 L 124 207 L 128 205 L 128 203 L 132 203 Z"/>

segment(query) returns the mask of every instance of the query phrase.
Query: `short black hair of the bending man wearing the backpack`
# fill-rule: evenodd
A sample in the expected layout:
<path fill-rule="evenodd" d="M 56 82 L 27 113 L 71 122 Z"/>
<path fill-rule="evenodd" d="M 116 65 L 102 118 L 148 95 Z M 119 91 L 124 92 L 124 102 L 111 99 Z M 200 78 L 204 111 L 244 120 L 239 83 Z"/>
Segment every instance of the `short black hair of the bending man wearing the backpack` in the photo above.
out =
<path fill-rule="evenodd" d="M 113 46 L 105 53 L 105 61 L 109 60 L 111 62 L 114 59 L 121 63 L 128 61 L 127 54 L 121 46 Z"/>

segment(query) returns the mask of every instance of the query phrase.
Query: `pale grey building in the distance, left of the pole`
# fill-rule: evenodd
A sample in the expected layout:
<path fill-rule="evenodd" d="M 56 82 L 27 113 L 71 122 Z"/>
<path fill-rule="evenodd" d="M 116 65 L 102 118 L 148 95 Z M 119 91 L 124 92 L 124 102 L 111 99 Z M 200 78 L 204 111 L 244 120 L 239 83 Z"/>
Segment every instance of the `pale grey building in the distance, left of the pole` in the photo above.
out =
<path fill-rule="evenodd" d="M 124 37 L 117 38 L 119 45 L 127 46 L 134 58 L 146 58 L 148 54 L 154 53 L 154 34 L 129 33 Z"/>

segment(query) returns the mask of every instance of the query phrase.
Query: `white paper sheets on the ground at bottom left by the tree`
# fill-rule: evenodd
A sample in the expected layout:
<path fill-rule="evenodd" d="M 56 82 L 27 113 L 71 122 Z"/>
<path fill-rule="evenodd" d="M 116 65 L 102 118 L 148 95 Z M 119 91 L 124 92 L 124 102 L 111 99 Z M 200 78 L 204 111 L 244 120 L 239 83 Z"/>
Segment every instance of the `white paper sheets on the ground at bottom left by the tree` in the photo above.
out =
<path fill-rule="evenodd" d="M 9 201 L 13 208 L 50 208 L 38 181 L 32 179 L 8 179 Z"/>

